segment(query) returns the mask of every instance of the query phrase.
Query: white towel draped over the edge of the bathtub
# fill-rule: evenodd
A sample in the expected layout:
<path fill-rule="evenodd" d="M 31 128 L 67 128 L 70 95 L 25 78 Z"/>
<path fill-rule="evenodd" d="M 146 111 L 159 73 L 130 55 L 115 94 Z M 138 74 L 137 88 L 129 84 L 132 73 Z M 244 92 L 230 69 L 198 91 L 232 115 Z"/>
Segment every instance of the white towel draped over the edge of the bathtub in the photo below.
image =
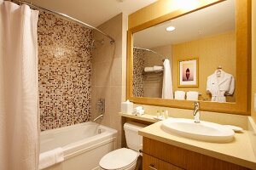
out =
<path fill-rule="evenodd" d="M 64 161 L 64 153 L 62 148 L 46 151 L 39 156 L 39 169 L 44 169 Z"/>

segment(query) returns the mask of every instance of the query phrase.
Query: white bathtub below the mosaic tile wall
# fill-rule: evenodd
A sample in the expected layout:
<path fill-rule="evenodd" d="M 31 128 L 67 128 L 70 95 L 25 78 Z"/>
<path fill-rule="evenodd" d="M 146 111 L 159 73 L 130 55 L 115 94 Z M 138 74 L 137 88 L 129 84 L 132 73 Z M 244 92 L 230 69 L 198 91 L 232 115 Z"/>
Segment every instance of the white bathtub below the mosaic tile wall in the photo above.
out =
<path fill-rule="evenodd" d="M 116 149 L 117 131 L 95 122 L 61 127 L 40 134 L 40 153 L 61 147 L 64 161 L 45 170 L 98 169 L 102 156 Z"/>

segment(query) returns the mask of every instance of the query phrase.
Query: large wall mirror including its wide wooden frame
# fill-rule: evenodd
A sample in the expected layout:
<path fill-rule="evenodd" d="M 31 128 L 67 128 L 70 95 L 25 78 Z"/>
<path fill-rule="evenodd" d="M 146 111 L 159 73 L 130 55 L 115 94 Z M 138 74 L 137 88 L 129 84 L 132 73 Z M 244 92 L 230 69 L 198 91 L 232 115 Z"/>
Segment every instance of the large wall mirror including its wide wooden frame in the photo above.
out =
<path fill-rule="evenodd" d="M 128 99 L 247 114 L 249 11 L 247 0 L 226 0 L 132 28 Z"/>

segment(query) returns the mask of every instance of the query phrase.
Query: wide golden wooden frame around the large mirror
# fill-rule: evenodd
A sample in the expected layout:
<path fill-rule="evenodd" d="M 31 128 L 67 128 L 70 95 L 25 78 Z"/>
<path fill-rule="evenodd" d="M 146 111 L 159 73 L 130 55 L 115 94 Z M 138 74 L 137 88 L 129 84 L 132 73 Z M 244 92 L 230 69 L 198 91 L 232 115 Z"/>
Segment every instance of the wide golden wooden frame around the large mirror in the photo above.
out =
<path fill-rule="evenodd" d="M 207 1 L 206 1 L 207 2 Z M 209 1 L 208 1 L 209 2 Z M 193 109 L 193 101 L 177 99 L 160 99 L 133 97 L 132 76 L 133 76 L 133 33 L 142 31 L 148 27 L 158 25 L 167 20 L 189 14 L 201 8 L 207 8 L 213 4 L 224 2 L 224 0 L 212 0 L 212 3 L 200 3 L 197 8 L 187 10 L 175 10 L 168 14 L 149 20 L 137 26 L 136 21 L 130 20 L 127 37 L 127 99 L 142 105 L 159 105 L 173 108 Z M 158 8 L 160 9 L 160 8 Z M 153 11 L 153 8 L 151 8 Z M 155 11 L 154 11 L 155 12 Z M 153 12 L 152 12 L 153 13 Z M 146 15 L 146 14 L 144 14 Z M 144 17 L 138 13 L 137 17 Z M 146 16 L 147 17 L 147 16 Z M 132 24 L 134 22 L 134 24 Z M 132 26 L 134 25 L 134 26 Z M 236 0 L 236 103 L 218 103 L 200 101 L 201 111 L 226 112 L 239 115 L 250 115 L 250 72 L 251 72 L 251 0 Z M 237 62 L 238 61 L 238 62 Z"/>

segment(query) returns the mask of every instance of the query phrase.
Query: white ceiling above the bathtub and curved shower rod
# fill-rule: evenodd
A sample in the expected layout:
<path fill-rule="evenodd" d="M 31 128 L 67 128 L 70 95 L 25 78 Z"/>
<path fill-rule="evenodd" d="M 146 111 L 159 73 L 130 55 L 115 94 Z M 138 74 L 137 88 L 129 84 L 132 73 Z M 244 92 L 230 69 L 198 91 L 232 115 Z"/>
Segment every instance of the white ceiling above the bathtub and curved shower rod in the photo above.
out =
<path fill-rule="evenodd" d="M 100 26 L 113 16 L 131 14 L 157 0 L 26 0 L 38 6 L 68 14 L 90 26 Z"/>

